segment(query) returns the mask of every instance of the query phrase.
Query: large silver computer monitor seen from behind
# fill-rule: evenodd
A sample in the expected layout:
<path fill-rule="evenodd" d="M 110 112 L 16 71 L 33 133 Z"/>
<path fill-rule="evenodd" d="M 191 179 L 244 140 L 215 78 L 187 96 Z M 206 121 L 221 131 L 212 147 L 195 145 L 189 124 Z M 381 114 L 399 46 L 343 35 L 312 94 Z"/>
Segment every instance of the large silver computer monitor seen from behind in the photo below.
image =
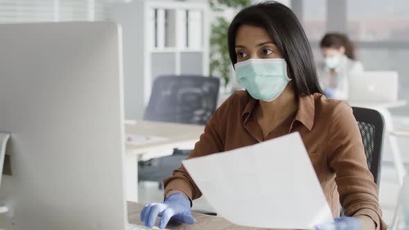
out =
<path fill-rule="evenodd" d="M 125 229 L 121 30 L 0 25 L 0 229 Z"/>

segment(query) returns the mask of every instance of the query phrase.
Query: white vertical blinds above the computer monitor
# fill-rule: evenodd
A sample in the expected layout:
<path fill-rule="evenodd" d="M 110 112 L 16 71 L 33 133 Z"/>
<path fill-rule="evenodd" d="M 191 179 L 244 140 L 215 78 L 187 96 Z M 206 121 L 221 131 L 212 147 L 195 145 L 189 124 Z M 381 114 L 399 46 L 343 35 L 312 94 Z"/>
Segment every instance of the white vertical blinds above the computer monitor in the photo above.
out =
<path fill-rule="evenodd" d="M 105 0 L 0 0 L 0 23 L 31 21 L 101 21 Z"/>

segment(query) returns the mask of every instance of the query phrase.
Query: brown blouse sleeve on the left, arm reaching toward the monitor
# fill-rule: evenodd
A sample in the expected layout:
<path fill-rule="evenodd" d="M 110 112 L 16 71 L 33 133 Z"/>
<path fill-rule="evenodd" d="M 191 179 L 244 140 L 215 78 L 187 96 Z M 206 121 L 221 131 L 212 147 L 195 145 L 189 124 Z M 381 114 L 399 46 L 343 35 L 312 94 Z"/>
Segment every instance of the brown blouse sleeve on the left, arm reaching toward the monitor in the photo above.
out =
<path fill-rule="evenodd" d="M 209 122 L 204 127 L 204 133 L 200 136 L 200 140 L 195 144 L 195 148 L 186 159 L 202 157 L 216 152 L 223 152 L 223 140 L 225 139 L 224 127 L 226 125 L 225 121 L 227 121 L 226 118 L 231 105 L 231 100 L 232 96 L 228 98 L 225 103 L 220 105 L 216 112 L 214 112 L 213 116 L 211 116 Z M 203 167 L 210 168 L 209 166 Z M 195 185 L 184 166 L 180 166 L 180 168 L 174 170 L 172 177 L 164 179 L 164 187 L 165 196 L 170 195 L 175 191 L 181 191 L 192 201 L 202 195 L 198 186 Z"/>

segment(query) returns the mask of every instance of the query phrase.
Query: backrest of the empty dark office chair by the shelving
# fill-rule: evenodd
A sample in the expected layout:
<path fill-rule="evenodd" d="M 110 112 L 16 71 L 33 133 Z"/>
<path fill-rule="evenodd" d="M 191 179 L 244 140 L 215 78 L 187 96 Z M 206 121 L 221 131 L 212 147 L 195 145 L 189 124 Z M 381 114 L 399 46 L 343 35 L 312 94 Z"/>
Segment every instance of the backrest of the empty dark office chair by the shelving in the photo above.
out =
<path fill-rule="evenodd" d="M 144 119 L 205 125 L 217 106 L 219 78 L 204 76 L 159 76 Z"/>

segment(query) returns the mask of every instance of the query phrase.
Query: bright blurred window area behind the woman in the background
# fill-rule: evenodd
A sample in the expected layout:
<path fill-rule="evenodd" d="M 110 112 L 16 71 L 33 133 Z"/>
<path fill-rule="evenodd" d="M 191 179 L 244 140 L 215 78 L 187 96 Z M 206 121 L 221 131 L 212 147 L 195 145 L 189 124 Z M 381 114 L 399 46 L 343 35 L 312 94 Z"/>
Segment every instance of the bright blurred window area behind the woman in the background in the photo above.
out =
<path fill-rule="evenodd" d="M 366 70 L 398 71 L 399 99 L 409 101 L 408 0 L 293 0 L 292 3 L 293 10 L 301 12 L 297 15 L 301 15 L 317 64 L 322 60 L 319 41 L 327 29 L 347 33 Z M 328 15 L 329 11 L 336 15 Z M 409 106 L 391 111 L 394 116 L 407 116 Z"/>

